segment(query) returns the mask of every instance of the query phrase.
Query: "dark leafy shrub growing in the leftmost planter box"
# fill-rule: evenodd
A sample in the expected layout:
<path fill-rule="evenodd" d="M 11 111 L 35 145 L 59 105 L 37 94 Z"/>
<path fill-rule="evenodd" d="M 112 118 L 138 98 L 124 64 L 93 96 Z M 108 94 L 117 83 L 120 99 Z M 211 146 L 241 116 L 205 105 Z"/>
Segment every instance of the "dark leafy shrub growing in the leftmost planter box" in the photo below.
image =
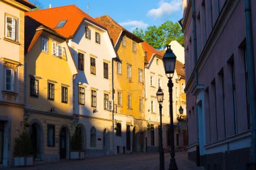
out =
<path fill-rule="evenodd" d="M 33 155 L 33 145 L 30 136 L 26 130 L 20 134 L 19 138 L 15 138 L 14 152 L 15 156 Z"/>

